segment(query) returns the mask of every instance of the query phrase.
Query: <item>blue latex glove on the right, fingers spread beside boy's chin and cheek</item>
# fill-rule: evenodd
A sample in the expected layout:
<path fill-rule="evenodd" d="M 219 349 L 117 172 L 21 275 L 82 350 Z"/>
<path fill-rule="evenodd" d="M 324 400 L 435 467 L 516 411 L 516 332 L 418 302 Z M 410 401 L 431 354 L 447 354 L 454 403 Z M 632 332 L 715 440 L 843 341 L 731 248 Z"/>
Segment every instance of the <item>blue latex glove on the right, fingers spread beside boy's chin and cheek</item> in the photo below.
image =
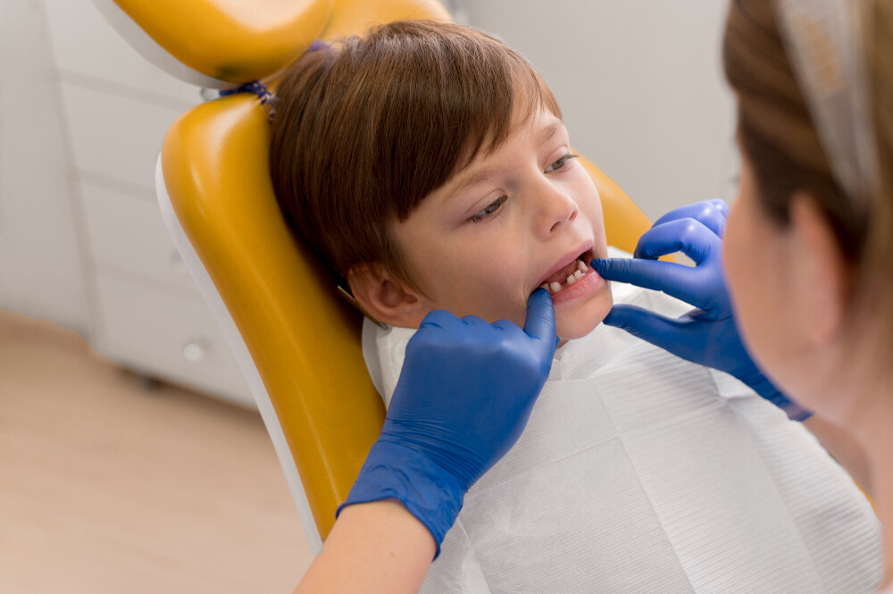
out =
<path fill-rule="evenodd" d="M 729 206 L 722 200 L 682 206 L 642 235 L 635 259 L 594 260 L 592 267 L 606 280 L 663 291 L 697 307 L 672 320 L 635 305 L 614 305 L 605 323 L 693 363 L 728 372 L 789 418 L 804 421 L 811 413 L 772 385 L 741 342 L 722 270 L 722 233 L 728 215 Z M 657 261 L 675 252 L 688 255 L 697 265 Z"/>

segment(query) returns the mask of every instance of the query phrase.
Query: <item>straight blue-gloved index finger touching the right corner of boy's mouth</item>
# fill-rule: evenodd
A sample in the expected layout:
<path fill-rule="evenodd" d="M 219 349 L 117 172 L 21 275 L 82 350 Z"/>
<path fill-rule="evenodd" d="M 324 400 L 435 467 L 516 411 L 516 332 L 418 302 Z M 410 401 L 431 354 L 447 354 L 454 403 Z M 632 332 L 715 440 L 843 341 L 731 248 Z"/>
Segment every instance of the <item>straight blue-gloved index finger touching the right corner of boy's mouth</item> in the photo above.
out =
<path fill-rule="evenodd" d="M 674 262 L 638 258 L 604 258 L 593 260 L 592 268 L 605 280 L 628 282 L 643 289 L 663 291 L 686 303 L 704 309 L 710 296 L 694 278 L 695 269 Z"/>

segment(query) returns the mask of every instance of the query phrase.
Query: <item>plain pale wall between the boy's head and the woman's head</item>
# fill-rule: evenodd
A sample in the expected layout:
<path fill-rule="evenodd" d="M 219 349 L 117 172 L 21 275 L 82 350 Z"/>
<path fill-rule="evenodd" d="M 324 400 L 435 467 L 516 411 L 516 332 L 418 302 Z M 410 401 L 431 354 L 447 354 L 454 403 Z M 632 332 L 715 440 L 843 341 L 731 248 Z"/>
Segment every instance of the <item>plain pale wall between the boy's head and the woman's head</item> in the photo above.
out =
<path fill-rule="evenodd" d="M 652 219 L 734 197 L 734 107 L 718 0 L 465 0 L 537 67 L 571 141 Z"/>

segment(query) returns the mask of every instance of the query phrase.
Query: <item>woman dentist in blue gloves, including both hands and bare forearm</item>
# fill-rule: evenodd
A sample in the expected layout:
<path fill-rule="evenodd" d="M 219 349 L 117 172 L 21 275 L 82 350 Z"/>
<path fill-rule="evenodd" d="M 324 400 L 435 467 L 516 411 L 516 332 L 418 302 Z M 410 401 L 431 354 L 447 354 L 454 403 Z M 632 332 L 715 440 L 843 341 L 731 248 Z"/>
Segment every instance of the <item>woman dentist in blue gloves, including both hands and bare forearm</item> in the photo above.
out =
<path fill-rule="evenodd" d="M 592 263 L 697 309 L 668 320 L 616 305 L 605 323 L 730 372 L 792 419 L 814 411 L 846 430 L 869 466 L 893 594 L 893 2 L 731 0 L 723 59 L 743 162 L 731 212 L 683 207 L 635 259 Z M 656 260 L 677 251 L 696 265 Z M 426 318 L 297 592 L 418 591 L 465 491 L 511 448 L 547 379 L 547 292 L 528 308 L 523 330 Z"/>

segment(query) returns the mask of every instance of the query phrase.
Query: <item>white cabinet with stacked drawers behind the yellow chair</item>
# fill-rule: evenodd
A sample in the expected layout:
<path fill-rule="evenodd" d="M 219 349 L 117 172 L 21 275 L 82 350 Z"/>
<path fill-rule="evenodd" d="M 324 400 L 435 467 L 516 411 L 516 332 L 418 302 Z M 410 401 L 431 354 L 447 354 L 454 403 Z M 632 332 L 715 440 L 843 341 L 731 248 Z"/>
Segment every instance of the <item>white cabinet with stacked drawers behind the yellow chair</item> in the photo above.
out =
<path fill-rule="evenodd" d="M 36 5 L 51 40 L 50 94 L 64 138 L 44 150 L 63 152 L 65 191 L 54 201 L 71 208 L 63 221 L 77 238 L 69 251 L 79 266 L 71 268 L 89 302 L 86 327 L 78 330 L 96 351 L 139 372 L 253 405 L 155 203 L 164 133 L 200 101 L 198 89 L 146 63 L 90 2 Z"/>

